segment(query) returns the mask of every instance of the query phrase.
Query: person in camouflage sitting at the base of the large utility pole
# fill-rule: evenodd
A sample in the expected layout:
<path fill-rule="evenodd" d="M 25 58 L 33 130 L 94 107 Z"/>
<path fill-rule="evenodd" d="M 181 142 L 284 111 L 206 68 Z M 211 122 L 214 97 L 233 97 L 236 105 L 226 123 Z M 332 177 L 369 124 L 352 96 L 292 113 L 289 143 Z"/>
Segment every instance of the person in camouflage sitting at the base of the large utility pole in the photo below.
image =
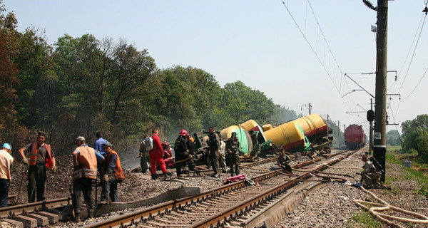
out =
<path fill-rule="evenodd" d="M 364 182 L 364 184 L 368 188 L 378 188 L 383 187 L 380 184 L 380 176 L 382 175 L 382 167 L 379 167 L 379 163 L 374 157 L 370 157 L 370 160 L 367 159 L 367 153 L 362 155 L 363 162 L 365 162 L 362 167 L 364 170 L 361 172 L 361 180 L 360 182 Z"/>

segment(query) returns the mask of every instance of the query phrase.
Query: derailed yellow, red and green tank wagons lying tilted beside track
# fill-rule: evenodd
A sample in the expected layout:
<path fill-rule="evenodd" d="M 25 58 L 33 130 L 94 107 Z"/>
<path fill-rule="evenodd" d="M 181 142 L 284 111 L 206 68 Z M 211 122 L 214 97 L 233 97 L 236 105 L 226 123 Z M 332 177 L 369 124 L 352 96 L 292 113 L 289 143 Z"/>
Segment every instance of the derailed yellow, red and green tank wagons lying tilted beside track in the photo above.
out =
<path fill-rule="evenodd" d="M 270 152 L 281 147 L 289 152 L 318 150 L 330 153 L 333 140 L 332 129 L 317 114 L 290 120 L 276 127 L 270 124 L 260 127 L 255 120 L 248 120 L 220 130 L 220 136 L 225 141 L 233 132 L 238 135 L 240 155 L 243 157 L 256 157 L 260 152 Z M 206 148 L 208 137 L 203 133 L 195 133 L 195 140 L 197 147 Z"/>

